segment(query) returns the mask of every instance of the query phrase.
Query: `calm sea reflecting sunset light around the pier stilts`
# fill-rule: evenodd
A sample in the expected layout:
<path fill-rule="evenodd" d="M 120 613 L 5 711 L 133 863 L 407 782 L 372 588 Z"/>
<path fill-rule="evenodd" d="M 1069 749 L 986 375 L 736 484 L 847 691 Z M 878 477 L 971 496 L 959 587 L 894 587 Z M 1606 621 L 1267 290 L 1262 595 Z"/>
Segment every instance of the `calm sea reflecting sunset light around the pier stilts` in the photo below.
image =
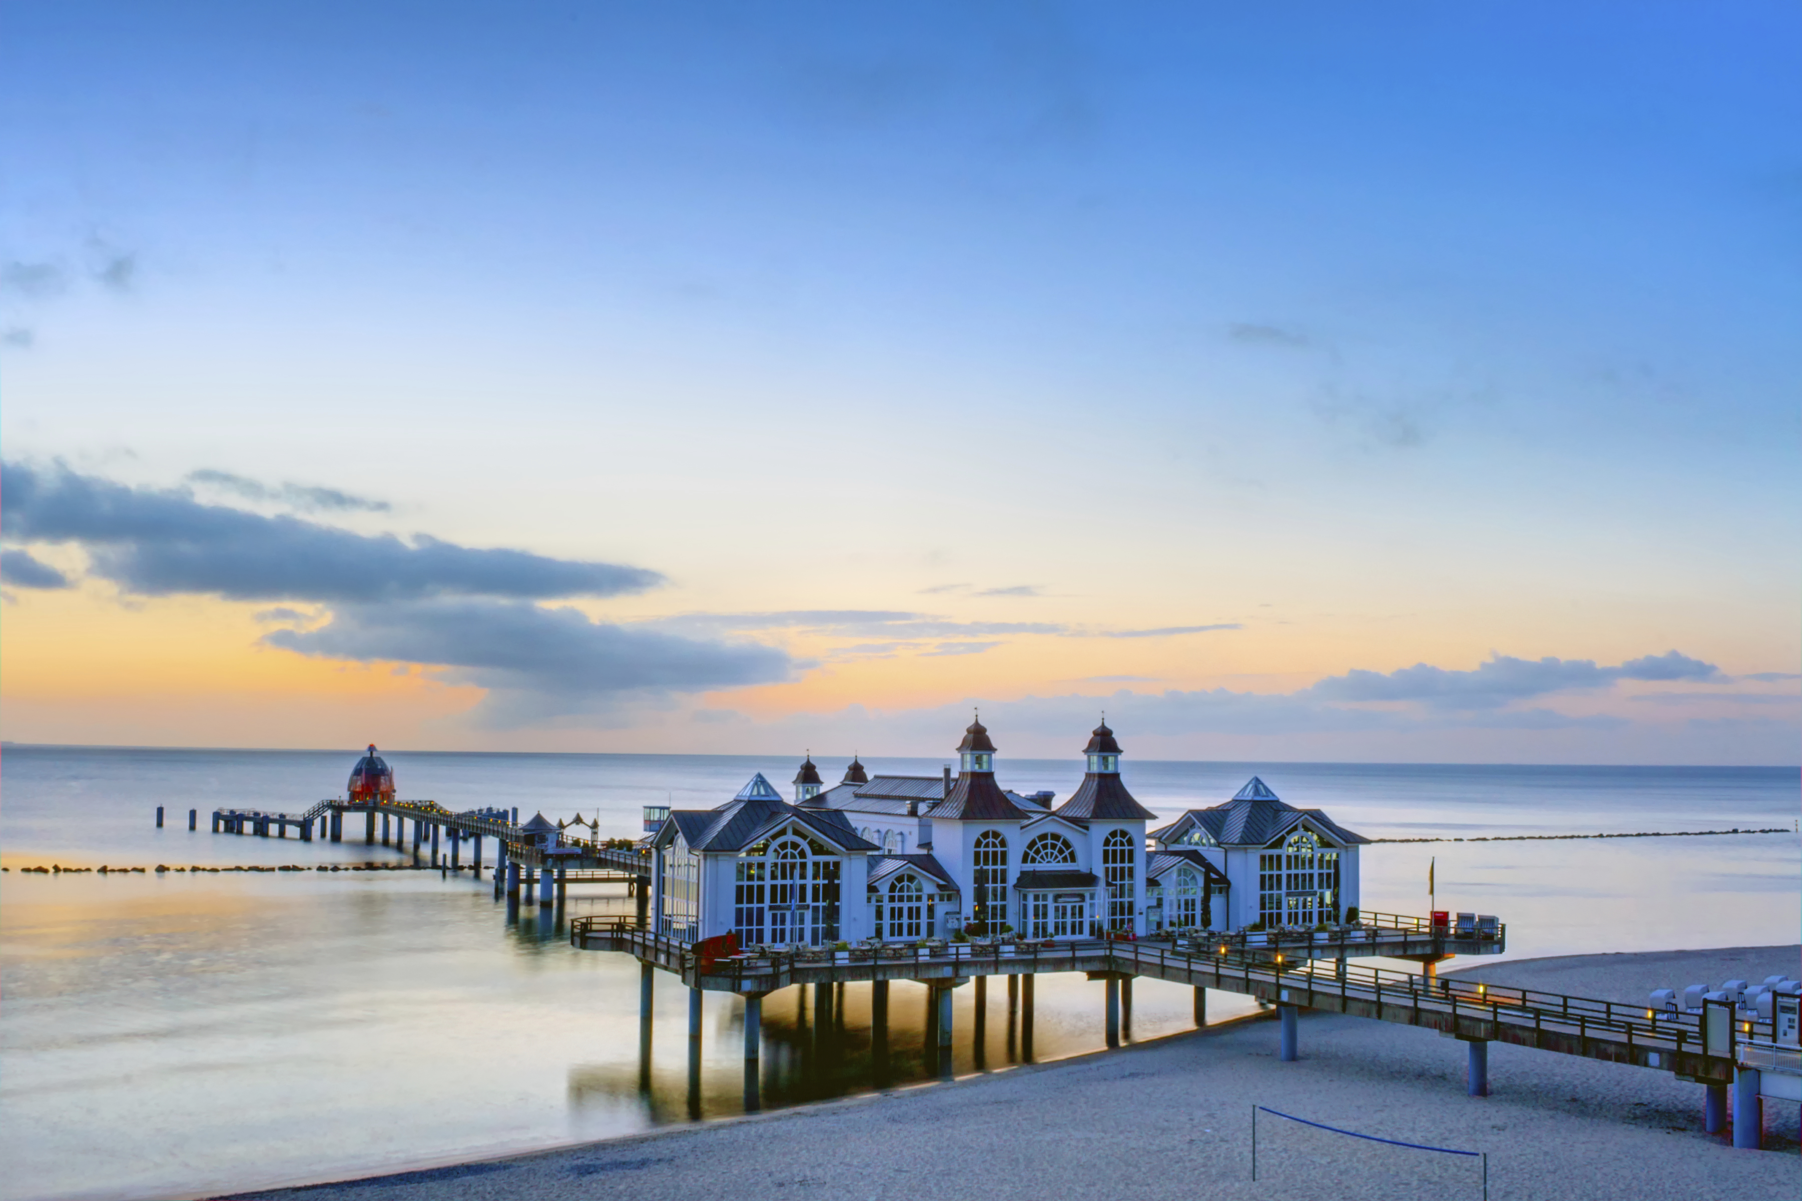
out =
<path fill-rule="evenodd" d="M 386 754 L 386 752 L 384 752 Z M 387 754 L 400 792 L 452 810 L 600 817 L 633 833 L 647 802 L 710 808 L 789 759 Z M 487 882 L 436 873 L 22 876 L 25 864 L 319 864 L 384 848 L 205 833 L 223 802 L 299 810 L 342 788 L 355 752 L 9 747 L 0 772 L 0 1197 L 200 1196 L 623 1134 L 742 1107 L 741 1010 L 706 997 L 699 1080 L 687 995 L 660 979 L 649 1080 L 638 967 L 577 952 L 566 921 L 629 902 L 571 889 L 564 911 L 508 911 Z M 870 761 L 935 774 L 937 759 Z M 829 777 L 842 765 L 824 763 Z M 1474 837 L 1784 826 L 1797 770 L 1132 763 L 1150 808 L 1215 804 L 1252 772 L 1368 837 Z M 1018 790 L 1067 795 L 1074 761 L 1002 765 Z M 168 828 L 151 813 L 168 806 Z M 202 813 L 187 831 L 186 813 Z M 351 822 L 355 824 L 355 822 Z M 346 830 L 346 835 L 351 835 Z M 360 837 L 360 826 L 357 828 Z M 1510 956 L 1798 940 L 1793 833 L 1606 842 L 1377 846 L 1364 903 L 1506 920 Z M 1670 981 L 1651 981 L 1656 986 Z M 1006 988 L 986 1046 L 957 992 L 957 1071 L 1018 1055 Z M 896 1078 L 923 1075 L 924 990 L 890 1004 Z M 1034 1053 L 1101 1046 L 1101 985 L 1045 977 Z M 1227 1017 L 1249 1006 L 1213 995 Z M 1133 1037 L 1189 1024 L 1184 988 L 1141 981 Z M 813 1030 L 796 990 L 764 1003 L 762 1104 L 870 1087 L 869 992 Z M 980 1057 L 980 1064 L 978 1064 Z"/>

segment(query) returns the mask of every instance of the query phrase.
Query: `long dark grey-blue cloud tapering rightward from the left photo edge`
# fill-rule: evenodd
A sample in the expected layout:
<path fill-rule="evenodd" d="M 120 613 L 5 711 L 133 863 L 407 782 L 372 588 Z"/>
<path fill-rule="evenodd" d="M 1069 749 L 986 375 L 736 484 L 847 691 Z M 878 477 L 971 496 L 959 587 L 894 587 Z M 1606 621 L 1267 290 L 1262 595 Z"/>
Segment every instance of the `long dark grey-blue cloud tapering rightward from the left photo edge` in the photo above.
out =
<path fill-rule="evenodd" d="M 202 505 L 67 467 L 0 465 L 0 534 L 79 543 L 92 572 L 141 595 L 369 602 L 422 597 L 560 599 L 643 591 L 656 572 L 476 550 L 414 534 L 364 536 L 290 516 Z"/>

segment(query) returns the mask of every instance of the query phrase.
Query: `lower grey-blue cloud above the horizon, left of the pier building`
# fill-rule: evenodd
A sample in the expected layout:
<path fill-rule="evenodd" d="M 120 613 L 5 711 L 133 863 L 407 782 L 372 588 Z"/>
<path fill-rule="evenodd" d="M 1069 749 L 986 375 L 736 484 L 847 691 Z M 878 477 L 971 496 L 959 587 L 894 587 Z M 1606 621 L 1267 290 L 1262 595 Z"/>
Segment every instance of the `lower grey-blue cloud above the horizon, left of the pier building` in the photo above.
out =
<path fill-rule="evenodd" d="M 604 714 L 625 700 L 777 683 L 802 664 L 755 644 L 681 638 L 519 600 L 425 599 L 341 604 L 319 629 L 274 629 L 263 644 L 315 658 L 441 669 L 488 694 L 474 716 L 521 727 Z"/>

